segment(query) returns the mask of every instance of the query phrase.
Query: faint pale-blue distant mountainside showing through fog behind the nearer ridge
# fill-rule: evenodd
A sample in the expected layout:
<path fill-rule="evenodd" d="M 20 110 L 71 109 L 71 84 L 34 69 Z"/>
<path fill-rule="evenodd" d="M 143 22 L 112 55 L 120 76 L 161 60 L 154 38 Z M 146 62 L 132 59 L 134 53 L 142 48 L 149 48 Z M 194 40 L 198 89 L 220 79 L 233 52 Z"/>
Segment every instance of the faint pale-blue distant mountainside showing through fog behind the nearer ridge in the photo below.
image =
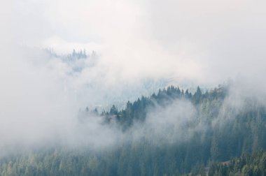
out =
<path fill-rule="evenodd" d="M 71 82 L 66 89 L 71 87 L 73 82 L 78 82 L 78 86 L 72 88 L 72 91 L 76 92 L 76 99 L 91 110 L 94 108 L 98 108 L 99 111 L 108 110 L 112 104 L 116 104 L 118 109 L 122 109 L 126 107 L 127 101 L 134 101 L 142 95 L 151 96 L 153 92 L 169 85 L 178 83 L 180 85 L 180 82 L 176 82 L 174 78 L 141 78 L 141 80 L 136 80 L 137 84 L 120 81 L 119 85 L 109 87 L 104 82 L 108 75 L 101 66 L 97 65 L 100 56 L 96 52 L 73 50 L 69 54 L 57 54 L 52 49 L 45 49 L 45 52 L 50 57 L 52 64 L 58 65 L 55 66 L 55 69 L 59 71 L 59 74 L 64 74 L 66 82 Z M 97 74 L 97 77 L 93 74 Z M 80 80 L 82 83 L 79 83 Z M 193 85 L 188 82 L 183 82 L 180 86 L 188 87 L 190 90 L 193 88 Z M 85 99 L 86 95 L 93 95 L 93 98 Z"/>

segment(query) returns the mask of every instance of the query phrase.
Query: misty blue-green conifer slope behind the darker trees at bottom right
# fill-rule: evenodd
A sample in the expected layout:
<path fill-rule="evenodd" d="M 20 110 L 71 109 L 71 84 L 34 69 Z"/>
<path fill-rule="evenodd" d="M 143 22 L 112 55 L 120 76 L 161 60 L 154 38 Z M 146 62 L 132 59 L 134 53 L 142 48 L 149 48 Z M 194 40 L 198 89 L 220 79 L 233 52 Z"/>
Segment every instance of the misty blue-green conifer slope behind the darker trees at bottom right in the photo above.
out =
<path fill-rule="evenodd" d="M 265 104 L 240 97 L 232 96 L 230 86 L 204 92 L 197 87 L 195 93 L 170 86 L 127 102 L 123 110 L 86 108 L 78 115 L 81 123 L 93 114 L 102 126 L 125 134 L 123 140 L 100 149 L 50 147 L 9 154 L 1 158 L 0 173 L 204 175 L 209 167 L 209 175 L 265 175 L 265 153 L 257 152 L 266 149 Z"/>

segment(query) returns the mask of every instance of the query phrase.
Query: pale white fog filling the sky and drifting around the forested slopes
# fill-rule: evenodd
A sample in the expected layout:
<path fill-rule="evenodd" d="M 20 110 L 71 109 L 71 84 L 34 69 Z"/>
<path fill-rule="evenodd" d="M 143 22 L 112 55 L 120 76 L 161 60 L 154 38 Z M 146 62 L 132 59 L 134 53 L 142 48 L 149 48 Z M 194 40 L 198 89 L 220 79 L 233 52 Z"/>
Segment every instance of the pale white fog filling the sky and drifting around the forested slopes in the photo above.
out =
<path fill-rule="evenodd" d="M 1 146 L 116 143 L 124 137 L 115 127 L 102 126 L 93 115 L 80 126 L 78 111 L 110 95 L 112 100 L 106 105 L 151 94 L 160 84 L 145 91 L 141 84 L 149 79 L 171 80 L 162 87 L 174 83 L 188 89 L 233 80 L 226 105 L 243 108 L 245 96 L 265 103 L 261 96 L 266 88 L 265 1 L 2 3 Z M 83 71 L 73 73 L 64 62 L 51 59 L 44 48 L 58 54 L 73 49 L 96 51 L 97 59 L 93 64 L 81 63 Z M 132 91 L 137 91 L 135 96 L 124 97 Z M 177 101 L 148 114 L 141 130 L 158 134 L 176 124 L 174 132 L 167 133 L 169 142 L 176 141 L 185 138 L 177 136 L 182 134 L 177 130 L 196 116 L 191 103 Z M 195 129 L 204 130 L 204 126 Z"/>

